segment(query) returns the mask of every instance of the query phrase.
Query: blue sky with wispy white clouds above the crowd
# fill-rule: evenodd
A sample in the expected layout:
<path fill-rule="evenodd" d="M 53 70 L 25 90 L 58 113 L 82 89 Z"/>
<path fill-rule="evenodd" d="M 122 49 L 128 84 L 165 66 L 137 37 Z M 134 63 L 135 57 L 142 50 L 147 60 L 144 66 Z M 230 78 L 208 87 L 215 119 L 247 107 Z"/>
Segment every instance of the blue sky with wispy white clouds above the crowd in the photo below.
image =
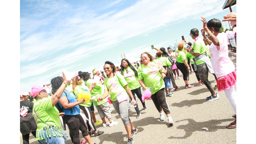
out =
<path fill-rule="evenodd" d="M 143 52 L 182 41 L 204 16 L 223 20 L 225 0 L 22 0 L 20 1 L 20 92 L 50 83 L 62 71 L 120 66 L 120 53 L 139 59 Z M 232 6 L 236 12 L 236 5 Z M 224 29 L 228 23 L 222 22 Z M 200 34 L 202 37 L 202 35 Z M 177 40 L 177 42 L 176 42 Z"/>

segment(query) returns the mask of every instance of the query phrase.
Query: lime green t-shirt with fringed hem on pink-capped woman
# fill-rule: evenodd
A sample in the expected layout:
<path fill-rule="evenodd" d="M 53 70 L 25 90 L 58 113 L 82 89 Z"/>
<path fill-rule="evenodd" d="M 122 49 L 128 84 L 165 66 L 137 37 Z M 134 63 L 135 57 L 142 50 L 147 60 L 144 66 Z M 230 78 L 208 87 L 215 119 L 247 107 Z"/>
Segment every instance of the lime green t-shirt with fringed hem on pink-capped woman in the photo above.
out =
<path fill-rule="evenodd" d="M 36 125 L 37 125 L 37 130 L 36 130 L 36 140 L 43 140 L 46 137 L 55 137 L 56 135 L 41 135 L 43 128 L 45 127 L 46 131 L 49 131 L 49 129 L 51 129 L 53 131 L 53 129 L 51 127 L 49 127 L 48 125 L 46 125 L 44 122 L 42 122 L 36 115 L 38 115 L 38 117 L 43 120 L 44 122 L 46 122 L 47 124 L 49 124 L 50 126 L 54 127 L 55 129 L 59 129 L 60 132 L 62 132 L 62 126 L 60 123 L 60 117 L 59 117 L 59 111 L 55 106 L 52 106 L 52 97 L 48 97 L 48 98 L 43 98 L 42 100 L 38 100 L 36 102 L 34 102 L 34 106 L 33 106 L 33 117 L 36 120 Z M 57 136 L 61 136 L 60 133 L 56 132 Z"/>

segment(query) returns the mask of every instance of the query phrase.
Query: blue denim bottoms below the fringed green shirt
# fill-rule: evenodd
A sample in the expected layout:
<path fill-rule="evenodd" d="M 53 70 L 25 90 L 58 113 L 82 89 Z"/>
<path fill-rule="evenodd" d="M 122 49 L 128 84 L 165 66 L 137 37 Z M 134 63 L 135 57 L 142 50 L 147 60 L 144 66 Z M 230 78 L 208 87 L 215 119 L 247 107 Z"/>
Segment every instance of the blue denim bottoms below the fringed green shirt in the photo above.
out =
<path fill-rule="evenodd" d="M 58 128 L 57 128 L 57 130 L 59 131 Z M 64 139 L 63 139 L 62 136 L 53 137 L 52 129 L 49 128 L 49 131 L 51 133 L 51 137 L 46 136 L 46 129 L 44 128 L 43 133 L 44 133 L 45 139 L 39 140 L 41 143 L 43 143 L 43 144 L 65 144 Z M 56 132 L 54 130 L 53 130 L 53 132 L 56 135 Z"/>

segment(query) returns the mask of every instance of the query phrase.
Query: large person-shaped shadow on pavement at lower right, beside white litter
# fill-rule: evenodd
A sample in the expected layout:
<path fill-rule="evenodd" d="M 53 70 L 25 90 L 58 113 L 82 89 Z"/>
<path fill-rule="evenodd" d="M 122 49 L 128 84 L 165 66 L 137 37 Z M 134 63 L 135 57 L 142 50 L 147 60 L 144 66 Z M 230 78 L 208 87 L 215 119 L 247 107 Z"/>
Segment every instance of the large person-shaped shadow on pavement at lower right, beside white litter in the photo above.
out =
<path fill-rule="evenodd" d="M 185 135 L 183 137 L 168 137 L 168 139 L 172 139 L 172 138 L 177 138 L 177 139 L 185 139 L 188 138 L 192 135 L 193 132 L 196 131 L 205 131 L 205 132 L 214 132 L 218 129 L 226 129 L 226 125 L 225 126 L 218 126 L 219 124 L 221 124 L 222 122 L 227 122 L 227 121 L 234 121 L 234 119 L 221 119 L 221 120 L 209 120 L 209 121 L 205 121 L 205 122 L 196 122 L 193 119 L 184 119 L 184 120 L 179 120 L 176 121 L 175 123 L 177 124 L 180 121 L 188 121 L 188 124 L 186 125 L 179 125 L 177 126 L 177 129 L 184 129 L 185 131 Z M 208 131 L 202 128 L 208 128 Z"/>

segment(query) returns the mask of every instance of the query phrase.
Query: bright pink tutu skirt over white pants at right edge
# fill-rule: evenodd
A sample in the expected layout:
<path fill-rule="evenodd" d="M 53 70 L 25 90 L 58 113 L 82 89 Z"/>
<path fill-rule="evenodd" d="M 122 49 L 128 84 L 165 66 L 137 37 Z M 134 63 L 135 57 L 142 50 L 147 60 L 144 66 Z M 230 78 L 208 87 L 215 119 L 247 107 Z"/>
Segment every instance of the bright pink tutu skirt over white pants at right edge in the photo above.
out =
<path fill-rule="evenodd" d="M 217 78 L 218 91 L 234 88 L 234 85 L 236 85 L 236 70 L 228 75 Z"/>

